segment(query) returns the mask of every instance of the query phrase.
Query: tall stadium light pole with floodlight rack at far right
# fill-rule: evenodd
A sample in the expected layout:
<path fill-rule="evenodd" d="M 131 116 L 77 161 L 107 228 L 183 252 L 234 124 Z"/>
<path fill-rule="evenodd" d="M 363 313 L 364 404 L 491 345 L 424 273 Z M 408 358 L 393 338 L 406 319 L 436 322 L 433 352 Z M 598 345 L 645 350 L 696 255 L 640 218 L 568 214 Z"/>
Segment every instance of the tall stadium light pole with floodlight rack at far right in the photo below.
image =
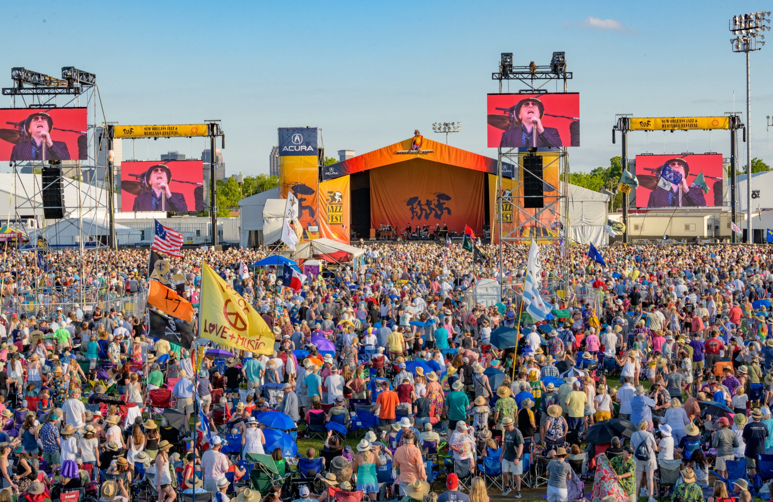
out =
<path fill-rule="evenodd" d="M 770 12 L 751 12 L 751 14 L 734 15 L 730 19 L 730 33 L 735 38 L 730 39 L 730 47 L 734 53 L 746 53 L 746 242 L 754 243 L 754 232 L 751 228 L 751 118 L 749 108 L 751 106 L 751 72 L 749 70 L 749 53 L 762 49 L 765 36 L 761 35 L 766 29 L 769 31 Z"/>

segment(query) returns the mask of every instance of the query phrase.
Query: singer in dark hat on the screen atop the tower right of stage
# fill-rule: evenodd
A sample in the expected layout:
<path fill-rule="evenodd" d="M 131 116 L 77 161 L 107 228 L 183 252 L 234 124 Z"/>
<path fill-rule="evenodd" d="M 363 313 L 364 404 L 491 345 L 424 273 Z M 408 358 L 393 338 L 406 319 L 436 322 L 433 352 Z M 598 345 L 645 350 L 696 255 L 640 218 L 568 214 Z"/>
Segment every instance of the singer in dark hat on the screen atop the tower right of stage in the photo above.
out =
<path fill-rule="evenodd" d="M 512 109 L 510 128 L 502 134 L 502 148 L 560 147 L 558 129 L 543 127 L 545 106 L 536 97 L 520 100 Z"/>

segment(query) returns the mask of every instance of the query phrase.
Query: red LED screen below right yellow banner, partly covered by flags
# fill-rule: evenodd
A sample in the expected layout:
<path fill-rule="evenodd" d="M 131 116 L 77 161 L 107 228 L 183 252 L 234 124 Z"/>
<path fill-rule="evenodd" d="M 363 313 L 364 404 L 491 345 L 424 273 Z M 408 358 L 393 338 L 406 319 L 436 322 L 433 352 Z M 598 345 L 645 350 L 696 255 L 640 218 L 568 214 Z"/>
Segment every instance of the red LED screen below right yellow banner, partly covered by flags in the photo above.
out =
<path fill-rule="evenodd" d="M 636 207 L 722 205 L 721 154 L 636 155 Z"/>

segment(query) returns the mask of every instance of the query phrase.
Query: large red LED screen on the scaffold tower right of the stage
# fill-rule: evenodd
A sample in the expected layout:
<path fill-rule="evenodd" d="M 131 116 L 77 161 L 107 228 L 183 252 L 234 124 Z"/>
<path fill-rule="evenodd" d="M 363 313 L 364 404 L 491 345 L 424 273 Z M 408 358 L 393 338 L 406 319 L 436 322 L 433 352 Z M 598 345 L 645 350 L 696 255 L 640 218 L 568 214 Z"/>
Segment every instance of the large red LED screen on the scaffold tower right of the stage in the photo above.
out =
<path fill-rule="evenodd" d="M 489 94 L 489 147 L 580 146 L 580 94 Z"/>

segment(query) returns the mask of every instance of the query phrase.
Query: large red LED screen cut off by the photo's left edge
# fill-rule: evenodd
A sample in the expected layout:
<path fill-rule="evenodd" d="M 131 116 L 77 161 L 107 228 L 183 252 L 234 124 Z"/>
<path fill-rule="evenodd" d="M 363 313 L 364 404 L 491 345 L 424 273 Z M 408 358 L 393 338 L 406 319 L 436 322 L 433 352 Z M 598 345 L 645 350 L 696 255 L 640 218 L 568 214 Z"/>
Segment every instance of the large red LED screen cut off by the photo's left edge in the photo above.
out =
<path fill-rule="evenodd" d="M 0 109 L 0 161 L 85 161 L 86 108 Z"/>

